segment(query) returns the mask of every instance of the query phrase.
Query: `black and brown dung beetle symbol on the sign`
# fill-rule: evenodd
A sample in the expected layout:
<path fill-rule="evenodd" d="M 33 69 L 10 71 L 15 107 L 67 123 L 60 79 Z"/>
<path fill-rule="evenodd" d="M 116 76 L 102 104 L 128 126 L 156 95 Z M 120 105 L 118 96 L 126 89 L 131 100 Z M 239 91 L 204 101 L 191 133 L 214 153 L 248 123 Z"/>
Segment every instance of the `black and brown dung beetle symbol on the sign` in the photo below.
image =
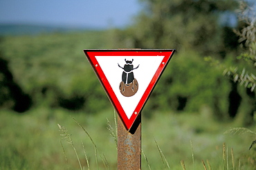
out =
<path fill-rule="evenodd" d="M 134 68 L 134 65 L 132 62 L 134 62 L 134 59 L 132 61 L 125 59 L 125 66 L 122 68 L 119 64 L 118 66 L 122 68 L 122 82 L 120 82 L 119 89 L 120 93 L 124 95 L 125 97 L 131 97 L 135 95 L 138 91 L 138 82 L 137 79 L 134 78 L 134 72 L 133 70 L 137 69 L 140 64 Z"/>

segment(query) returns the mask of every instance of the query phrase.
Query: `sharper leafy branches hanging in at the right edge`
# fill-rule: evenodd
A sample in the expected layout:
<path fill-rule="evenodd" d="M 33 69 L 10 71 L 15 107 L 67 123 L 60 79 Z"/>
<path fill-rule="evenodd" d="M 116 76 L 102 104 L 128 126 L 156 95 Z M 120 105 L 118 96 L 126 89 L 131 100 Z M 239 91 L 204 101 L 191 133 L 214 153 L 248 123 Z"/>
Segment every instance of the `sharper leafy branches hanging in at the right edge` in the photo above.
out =
<path fill-rule="evenodd" d="M 247 62 L 246 68 L 239 71 L 237 66 L 232 66 L 226 68 L 223 74 L 253 91 L 256 86 L 256 76 L 253 74 L 256 67 L 256 11 L 253 7 L 241 2 L 237 12 L 239 20 L 245 24 L 241 30 L 234 30 L 239 36 L 241 47 L 244 48 L 244 52 L 237 59 L 244 59 Z"/>

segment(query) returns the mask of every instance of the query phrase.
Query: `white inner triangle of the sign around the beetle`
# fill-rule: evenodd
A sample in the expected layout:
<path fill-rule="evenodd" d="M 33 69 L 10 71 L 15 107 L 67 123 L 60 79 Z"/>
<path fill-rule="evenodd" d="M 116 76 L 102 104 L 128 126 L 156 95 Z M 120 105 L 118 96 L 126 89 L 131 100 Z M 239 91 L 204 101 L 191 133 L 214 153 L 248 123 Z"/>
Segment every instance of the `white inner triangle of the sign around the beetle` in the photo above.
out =
<path fill-rule="evenodd" d="M 131 115 L 134 113 L 138 102 L 140 102 L 140 99 L 143 97 L 143 94 L 156 74 L 156 70 L 161 65 L 164 57 L 165 56 L 95 56 L 95 59 L 97 59 L 104 75 L 107 77 L 128 119 L 130 119 Z M 133 70 L 125 71 L 125 65 L 133 65 Z M 123 72 L 125 72 L 126 78 L 128 78 L 129 73 L 132 72 L 134 79 L 138 82 L 138 91 L 130 97 L 126 97 L 120 92 Z"/>

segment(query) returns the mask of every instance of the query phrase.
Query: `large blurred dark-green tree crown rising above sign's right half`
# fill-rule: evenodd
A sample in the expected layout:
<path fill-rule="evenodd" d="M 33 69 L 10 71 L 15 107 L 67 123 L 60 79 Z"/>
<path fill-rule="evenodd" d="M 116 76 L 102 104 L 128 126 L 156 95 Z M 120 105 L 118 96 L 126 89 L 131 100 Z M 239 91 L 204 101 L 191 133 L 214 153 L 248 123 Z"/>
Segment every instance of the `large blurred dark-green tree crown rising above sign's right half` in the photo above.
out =
<path fill-rule="evenodd" d="M 200 50 L 202 54 L 220 53 L 219 17 L 232 12 L 236 1 L 225 0 L 141 0 L 144 12 L 130 31 L 134 48 L 170 48 Z"/>

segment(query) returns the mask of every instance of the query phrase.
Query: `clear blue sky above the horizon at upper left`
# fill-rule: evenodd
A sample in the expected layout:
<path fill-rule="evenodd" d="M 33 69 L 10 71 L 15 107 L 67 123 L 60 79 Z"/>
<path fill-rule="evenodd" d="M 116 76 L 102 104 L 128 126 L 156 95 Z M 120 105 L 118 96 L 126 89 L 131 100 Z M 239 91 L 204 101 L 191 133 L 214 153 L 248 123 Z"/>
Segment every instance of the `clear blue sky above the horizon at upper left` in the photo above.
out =
<path fill-rule="evenodd" d="M 120 28 L 140 10 L 138 0 L 1 0 L 0 23 Z"/>

